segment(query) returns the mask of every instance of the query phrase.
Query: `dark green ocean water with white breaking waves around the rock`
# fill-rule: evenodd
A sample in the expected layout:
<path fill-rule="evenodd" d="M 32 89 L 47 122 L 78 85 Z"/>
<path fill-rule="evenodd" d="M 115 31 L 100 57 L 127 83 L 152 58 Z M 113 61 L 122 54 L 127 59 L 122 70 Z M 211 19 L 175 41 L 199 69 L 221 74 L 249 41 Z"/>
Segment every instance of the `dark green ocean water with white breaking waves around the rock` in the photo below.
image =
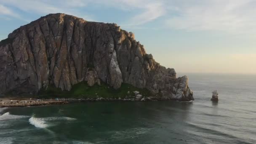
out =
<path fill-rule="evenodd" d="M 0 144 L 256 144 L 256 75 L 188 76 L 195 101 L 0 109 Z"/>

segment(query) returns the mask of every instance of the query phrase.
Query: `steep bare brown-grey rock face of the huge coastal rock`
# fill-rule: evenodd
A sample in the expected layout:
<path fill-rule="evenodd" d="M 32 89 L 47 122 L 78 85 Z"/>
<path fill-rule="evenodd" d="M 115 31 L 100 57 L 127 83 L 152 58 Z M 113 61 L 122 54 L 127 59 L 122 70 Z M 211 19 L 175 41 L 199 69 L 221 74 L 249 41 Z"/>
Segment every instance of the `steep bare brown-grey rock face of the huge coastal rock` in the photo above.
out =
<path fill-rule="evenodd" d="M 187 76 L 160 66 L 144 46 L 116 24 L 49 14 L 0 42 L 0 93 L 37 93 L 53 84 L 69 91 L 81 81 L 118 89 L 147 88 L 162 99 L 189 101 Z"/>

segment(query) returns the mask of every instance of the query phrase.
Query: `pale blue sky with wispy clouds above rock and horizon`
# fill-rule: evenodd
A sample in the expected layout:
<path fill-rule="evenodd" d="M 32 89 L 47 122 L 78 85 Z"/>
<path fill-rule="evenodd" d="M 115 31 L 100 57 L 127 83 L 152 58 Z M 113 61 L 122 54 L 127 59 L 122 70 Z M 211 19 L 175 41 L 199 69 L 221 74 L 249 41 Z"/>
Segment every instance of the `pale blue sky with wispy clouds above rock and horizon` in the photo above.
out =
<path fill-rule="evenodd" d="M 176 72 L 256 74 L 256 0 L 0 0 L 0 40 L 48 13 L 116 23 Z"/>

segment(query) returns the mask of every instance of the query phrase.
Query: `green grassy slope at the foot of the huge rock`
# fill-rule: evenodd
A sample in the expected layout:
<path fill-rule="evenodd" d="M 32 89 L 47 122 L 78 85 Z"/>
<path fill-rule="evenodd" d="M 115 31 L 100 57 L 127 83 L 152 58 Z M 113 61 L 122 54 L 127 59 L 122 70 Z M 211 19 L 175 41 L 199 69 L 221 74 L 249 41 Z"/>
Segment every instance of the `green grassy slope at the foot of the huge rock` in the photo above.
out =
<path fill-rule="evenodd" d="M 130 94 L 128 94 L 130 91 Z M 105 83 L 101 85 L 87 85 L 87 82 L 81 82 L 72 86 L 71 91 L 61 91 L 61 88 L 49 86 L 46 90 L 40 90 L 37 98 L 125 98 L 125 96 L 134 96 L 133 91 L 139 91 L 143 96 L 151 96 L 147 89 L 135 88 L 132 85 L 123 83 L 118 90 L 110 88 Z"/>

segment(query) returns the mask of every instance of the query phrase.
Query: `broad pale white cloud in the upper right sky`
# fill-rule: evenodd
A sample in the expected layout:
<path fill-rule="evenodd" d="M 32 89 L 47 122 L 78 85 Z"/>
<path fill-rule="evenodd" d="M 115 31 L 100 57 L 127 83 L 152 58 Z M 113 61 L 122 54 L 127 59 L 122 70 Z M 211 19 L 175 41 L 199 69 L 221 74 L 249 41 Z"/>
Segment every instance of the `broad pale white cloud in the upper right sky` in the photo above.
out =
<path fill-rule="evenodd" d="M 255 0 L 171 0 L 167 27 L 187 31 L 256 32 Z"/>

